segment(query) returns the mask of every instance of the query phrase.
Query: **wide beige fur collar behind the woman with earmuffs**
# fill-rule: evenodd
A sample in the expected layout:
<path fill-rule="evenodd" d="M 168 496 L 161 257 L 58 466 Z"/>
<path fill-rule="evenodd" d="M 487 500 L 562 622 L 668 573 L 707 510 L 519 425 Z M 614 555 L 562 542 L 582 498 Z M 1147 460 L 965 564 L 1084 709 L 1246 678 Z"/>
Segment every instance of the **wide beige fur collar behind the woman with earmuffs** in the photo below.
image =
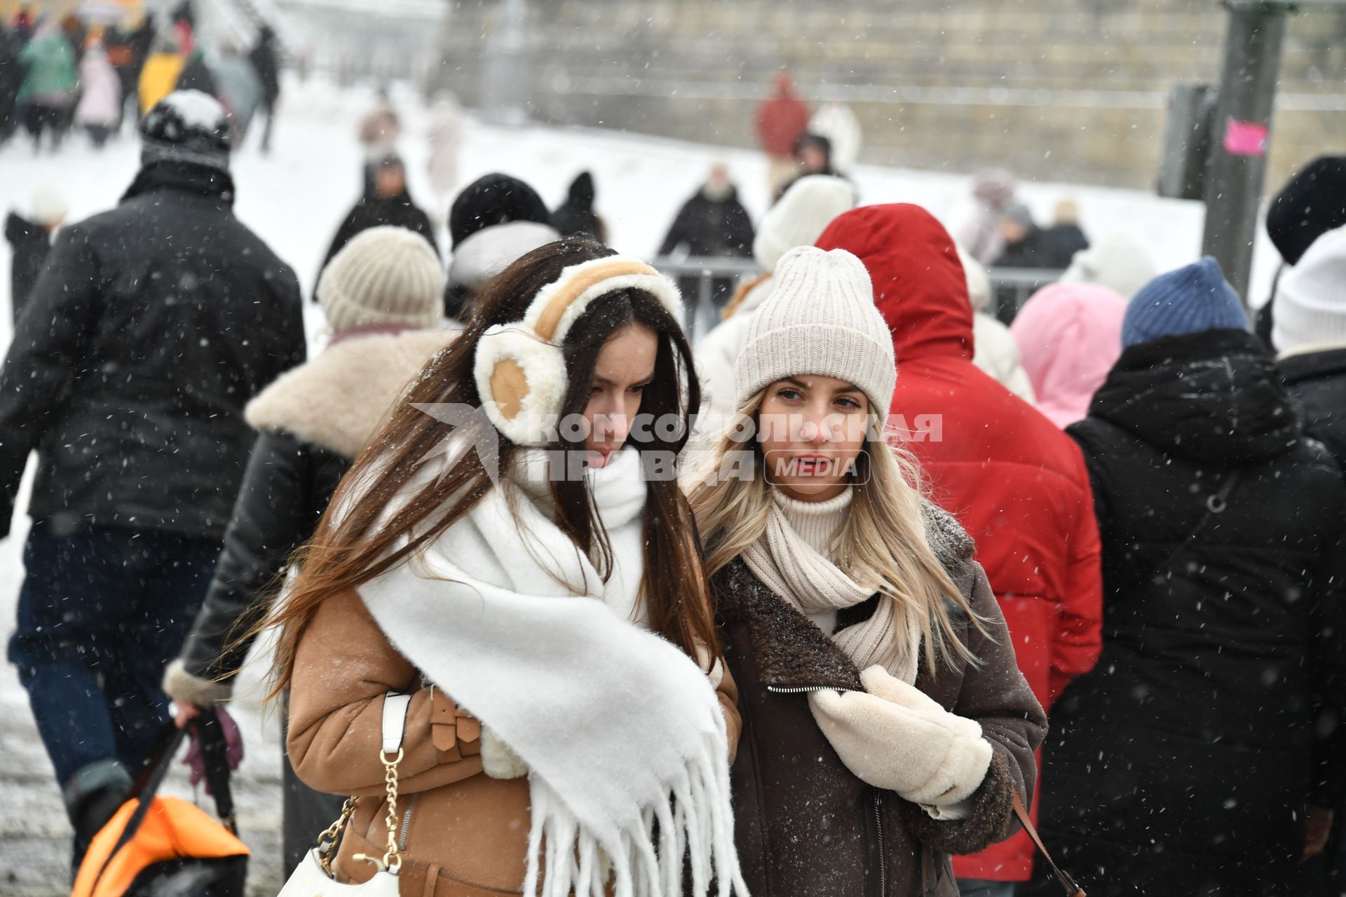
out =
<path fill-rule="evenodd" d="M 455 331 L 408 331 L 328 346 L 249 402 L 248 424 L 354 459 L 412 378 L 454 336 Z"/>

